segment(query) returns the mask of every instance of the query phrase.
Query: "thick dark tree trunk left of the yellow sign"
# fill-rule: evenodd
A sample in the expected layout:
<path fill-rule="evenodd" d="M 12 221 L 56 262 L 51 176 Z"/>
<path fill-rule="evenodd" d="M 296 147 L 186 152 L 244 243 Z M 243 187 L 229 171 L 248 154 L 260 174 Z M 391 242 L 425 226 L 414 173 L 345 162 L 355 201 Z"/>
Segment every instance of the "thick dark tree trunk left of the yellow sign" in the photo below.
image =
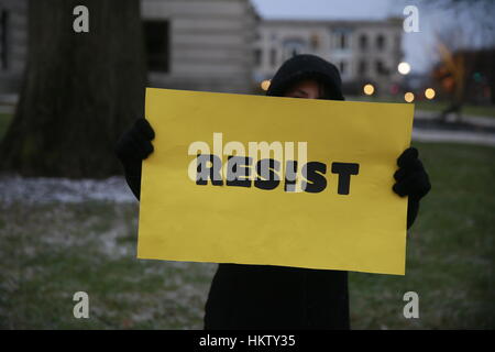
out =
<path fill-rule="evenodd" d="M 89 32 L 76 33 L 77 6 Z M 121 173 L 113 147 L 143 117 L 145 61 L 139 0 L 30 0 L 29 55 L 0 167 L 24 176 Z"/>

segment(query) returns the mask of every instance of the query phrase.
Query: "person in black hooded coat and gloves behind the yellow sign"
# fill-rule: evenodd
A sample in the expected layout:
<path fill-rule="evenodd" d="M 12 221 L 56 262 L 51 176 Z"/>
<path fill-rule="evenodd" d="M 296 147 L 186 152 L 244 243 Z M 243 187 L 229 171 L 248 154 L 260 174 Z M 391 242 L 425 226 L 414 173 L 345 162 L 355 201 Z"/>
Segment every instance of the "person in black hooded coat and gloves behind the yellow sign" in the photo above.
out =
<path fill-rule="evenodd" d="M 267 96 L 344 100 L 334 65 L 314 55 L 285 62 Z M 127 182 L 140 199 L 142 161 L 153 153 L 154 130 L 139 119 L 117 145 Z M 430 182 L 418 151 L 397 158 L 393 190 L 408 196 L 407 228 Z M 350 329 L 348 272 L 220 263 L 208 295 L 205 329 Z"/>

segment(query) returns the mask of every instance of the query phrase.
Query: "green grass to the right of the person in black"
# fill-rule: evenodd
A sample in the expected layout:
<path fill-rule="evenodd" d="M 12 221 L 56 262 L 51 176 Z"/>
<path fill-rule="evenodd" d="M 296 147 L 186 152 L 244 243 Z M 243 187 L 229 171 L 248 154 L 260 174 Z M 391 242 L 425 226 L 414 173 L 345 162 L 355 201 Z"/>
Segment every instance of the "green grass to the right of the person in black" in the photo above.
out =
<path fill-rule="evenodd" d="M 355 329 L 495 328 L 495 148 L 415 143 L 432 191 L 409 230 L 405 276 L 351 274 Z M 406 292 L 419 319 L 403 317 Z"/>

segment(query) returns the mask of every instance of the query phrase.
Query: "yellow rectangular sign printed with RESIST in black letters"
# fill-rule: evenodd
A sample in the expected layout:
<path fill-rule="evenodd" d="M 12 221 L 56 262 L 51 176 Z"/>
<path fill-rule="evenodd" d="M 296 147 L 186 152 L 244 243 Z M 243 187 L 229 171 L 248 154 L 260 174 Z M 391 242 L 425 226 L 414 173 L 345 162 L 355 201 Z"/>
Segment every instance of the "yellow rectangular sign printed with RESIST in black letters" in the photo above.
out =
<path fill-rule="evenodd" d="M 146 89 L 138 257 L 404 275 L 413 111 Z"/>

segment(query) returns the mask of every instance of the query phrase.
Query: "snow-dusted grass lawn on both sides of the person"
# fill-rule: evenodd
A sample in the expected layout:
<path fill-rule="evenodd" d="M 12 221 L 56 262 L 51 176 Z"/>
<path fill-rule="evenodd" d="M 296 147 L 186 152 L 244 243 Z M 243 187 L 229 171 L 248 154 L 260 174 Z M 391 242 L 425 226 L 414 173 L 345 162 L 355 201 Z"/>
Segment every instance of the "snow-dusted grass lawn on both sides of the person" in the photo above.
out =
<path fill-rule="evenodd" d="M 405 276 L 351 273 L 353 329 L 495 328 L 495 148 L 420 144 L 433 189 Z M 135 258 L 138 205 L 13 204 L 0 196 L 0 328 L 202 327 L 215 264 Z M 89 294 L 89 319 L 73 295 Z M 419 295 L 405 319 L 403 295 Z"/>

